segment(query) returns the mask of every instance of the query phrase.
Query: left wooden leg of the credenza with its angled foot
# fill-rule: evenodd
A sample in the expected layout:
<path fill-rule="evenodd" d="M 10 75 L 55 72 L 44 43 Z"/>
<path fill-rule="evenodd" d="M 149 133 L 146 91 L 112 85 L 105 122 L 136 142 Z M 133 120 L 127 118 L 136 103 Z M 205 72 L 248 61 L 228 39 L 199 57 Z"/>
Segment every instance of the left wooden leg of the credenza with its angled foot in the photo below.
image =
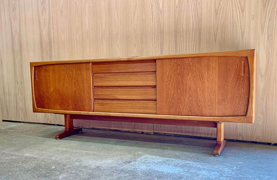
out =
<path fill-rule="evenodd" d="M 70 118 L 69 114 L 64 115 L 64 131 L 55 136 L 55 139 L 61 139 L 75 133 L 81 132 L 81 128 L 73 127 L 73 119 Z"/>

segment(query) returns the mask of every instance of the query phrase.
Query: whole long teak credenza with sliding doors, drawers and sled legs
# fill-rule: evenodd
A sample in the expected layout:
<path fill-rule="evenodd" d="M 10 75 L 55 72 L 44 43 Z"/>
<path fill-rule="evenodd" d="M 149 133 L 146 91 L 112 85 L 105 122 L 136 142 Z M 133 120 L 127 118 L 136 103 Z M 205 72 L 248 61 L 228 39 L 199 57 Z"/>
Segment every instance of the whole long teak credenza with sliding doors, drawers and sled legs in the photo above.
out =
<path fill-rule="evenodd" d="M 217 129 L 255 120 L 254 49 L 131 58 L 31 62 L 33 112 L 64 114 L 60 139 L 82 131 L 73 119 Z"/>

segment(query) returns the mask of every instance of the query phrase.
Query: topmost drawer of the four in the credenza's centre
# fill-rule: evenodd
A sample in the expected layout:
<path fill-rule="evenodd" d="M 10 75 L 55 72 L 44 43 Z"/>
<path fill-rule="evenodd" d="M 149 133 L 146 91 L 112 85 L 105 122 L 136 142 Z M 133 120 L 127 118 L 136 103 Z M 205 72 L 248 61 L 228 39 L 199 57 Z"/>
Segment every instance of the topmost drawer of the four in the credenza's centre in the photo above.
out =
<path fill-rule="evenodd" d="M 92 72 L 156 72 L 156 60 L 93 63 Z"/>

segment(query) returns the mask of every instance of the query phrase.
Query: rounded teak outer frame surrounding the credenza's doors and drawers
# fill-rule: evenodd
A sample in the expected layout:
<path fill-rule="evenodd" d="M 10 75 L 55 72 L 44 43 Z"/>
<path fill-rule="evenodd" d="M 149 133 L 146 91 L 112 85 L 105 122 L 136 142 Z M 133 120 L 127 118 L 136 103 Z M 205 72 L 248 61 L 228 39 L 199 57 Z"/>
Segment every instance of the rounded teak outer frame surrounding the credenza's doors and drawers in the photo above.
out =
<path fill-rule="evenodd" d="M 136 60 L 157 60 L 171 58 L 187 57 L 209 57 L 209 56 L 235 56 L 247 57 L 250 75 L 249 102 L 246 116 L 176 116 L 176 115 L 157 115 L 157 114 L 140 114 L 140 113 L 115 113 L 115 112 L 86 112 L 86 111 L 66 111 L 50 110 L 37 108 L 34 93 L 34 67 L 48 64 L 72 64 L 72 63 L 94 63 L 94 62 L 115 62 L 115 61 L 136 61 Z M 254 123 L 256 111 L 256 83 L 257 83 L 257 52 L 255 49 L 237 50 L 237 51 L 220 51 L 210 53 L 186 53 L 173 55 L 156 55 L 156 56 L 138 56 L 130 58 L 108 58 L 92 60 L 68 60 L 68 61 L 49 61 L 49 62 L 30 62 L 31 88 L 33 112 L 55 113 L 55 114 L 79 114 L 79 115 L 97 115 L 97 116 L 121 116 L 136 118 L 157 118 L 157 119 L 176 119 L 176 120 L 202 120 L 213 122 L 242 122 Z"/>

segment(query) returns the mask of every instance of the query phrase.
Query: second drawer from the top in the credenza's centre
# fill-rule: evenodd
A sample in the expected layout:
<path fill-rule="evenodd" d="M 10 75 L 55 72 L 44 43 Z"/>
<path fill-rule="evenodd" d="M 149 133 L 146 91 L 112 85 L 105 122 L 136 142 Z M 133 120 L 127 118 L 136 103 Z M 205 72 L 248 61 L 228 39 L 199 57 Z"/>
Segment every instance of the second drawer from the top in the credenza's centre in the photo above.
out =
<path fill-rule="evenodd" d="M 95 74 L 93 86 L 156 86 L 156 73 Z"/>

